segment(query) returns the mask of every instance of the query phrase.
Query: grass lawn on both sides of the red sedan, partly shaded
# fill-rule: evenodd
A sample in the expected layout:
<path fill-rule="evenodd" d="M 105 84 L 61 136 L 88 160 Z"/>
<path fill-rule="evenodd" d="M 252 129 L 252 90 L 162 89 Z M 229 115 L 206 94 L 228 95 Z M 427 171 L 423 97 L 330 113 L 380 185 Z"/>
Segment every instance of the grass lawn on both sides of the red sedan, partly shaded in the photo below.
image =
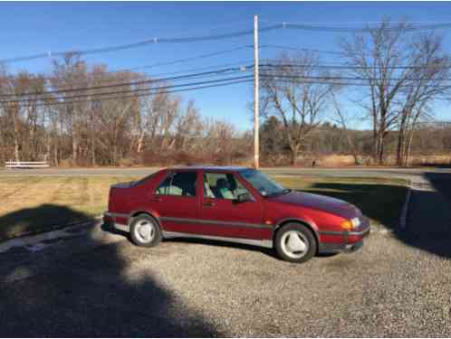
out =
<path fill-rule="evenodd" d="M 128 176 L 0 177 L 0 241 L 82 221 L 106 210 L 110 184 Z M 358 206 L 371 221 L 395 227 L 406 196 L 402 180 L 275 177 L 285 187 L 337 197 Z"/>

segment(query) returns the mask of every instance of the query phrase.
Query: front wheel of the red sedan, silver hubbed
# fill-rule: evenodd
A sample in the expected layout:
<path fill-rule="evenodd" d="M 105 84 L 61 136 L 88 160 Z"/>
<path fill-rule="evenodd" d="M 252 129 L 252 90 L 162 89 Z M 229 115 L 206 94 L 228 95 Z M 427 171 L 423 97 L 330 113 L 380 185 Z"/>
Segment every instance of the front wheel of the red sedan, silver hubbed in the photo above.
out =
<path fill-rule="evenodd" d="M 275 250 L 286 261 L 302 263 L 312 259 L 317 250 L 312 231 L 300 223 L 288 223 L 275 234 Z"/>

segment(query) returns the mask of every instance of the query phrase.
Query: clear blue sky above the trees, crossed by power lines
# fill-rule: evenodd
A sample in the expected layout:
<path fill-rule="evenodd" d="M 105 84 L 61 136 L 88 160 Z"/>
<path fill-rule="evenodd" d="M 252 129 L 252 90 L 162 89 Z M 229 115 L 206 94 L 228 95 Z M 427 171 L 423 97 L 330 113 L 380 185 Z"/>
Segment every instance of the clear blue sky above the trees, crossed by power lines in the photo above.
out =
<path fill-rule="evenodd" d="M 61 52 L 109 47 L 140 42 L 154 37 L 187 37 L 233 33 L 252 29 L 254 14 L 260 26 L 271 23 L 321 24 L 361 27 L 389 16 L 393 21 L 451 22 L 451 3 L 435 2 L 242 2 L 242 3 L 0 3 L 0 60 L 43 52 Z M 446 51 L 451 52 L 451 29 L 442 30 Z M 339 51 L 339 39 L 346 33 L 324 33 L 300 30 L 278 30 L 260 33 L 260 44 L 277 44 L 294 48 Z M 253 36 L 246 35 L 220 41 L 150 44 L 119 52 L 83 56 L 92 65 L 103 63 L 109 70 L 130 69 L 159 62 L 219 52 L 252 45 Z M 449 46 L 449 47 L 448 47 Z M 260 58 L 273 58 L 281 50 L 262 48 Z M 293 52 L 293 51 L 292 51 Z M 172 65 L 146 69 L 155 77 L 177 71 L 217 66 L 237 61 L 243 65 L 253 61 L 252 48 Z M 321 54 L 321 63 L 339 63 L 337 57 Z M 14 73 L 20 70 L 49 74 L 49 59 L 18 61 L 6 64 Z M 219 68 L 219 67 L 218 67 Z M 248 103 L 252 100 L 252 84 L 238 84 L 216 89 L 184 92 L 183 99 L 195 99 L 203 115 L 234 123 L 240 130 L 252 127 Z M 358 109 L 343 100 L 350 114 Z M 447 117 L 446 104 L 435 107 L 436 116 Z M 356 120 L 353 127 L 367 123 Z"/>

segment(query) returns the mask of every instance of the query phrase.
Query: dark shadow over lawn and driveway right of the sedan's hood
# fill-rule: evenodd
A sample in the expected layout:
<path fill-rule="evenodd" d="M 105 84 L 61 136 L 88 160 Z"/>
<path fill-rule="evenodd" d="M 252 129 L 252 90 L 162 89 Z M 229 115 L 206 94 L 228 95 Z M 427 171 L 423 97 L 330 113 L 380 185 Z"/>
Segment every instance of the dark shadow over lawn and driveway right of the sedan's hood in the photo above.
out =
<path fill-rule="evenodd" d="M 435 192 L 412 190 L 407 225 L 399 221 L 407 189 L 392 184 L 312 185 L 307 193 L 317 193 L 350 202 L 364 215 L 389 230 L 404 244 L 442 258 L 451 258 L 451 174 L 426 173 Z M 445 197 L 445 198 L 444 198 Z"/>

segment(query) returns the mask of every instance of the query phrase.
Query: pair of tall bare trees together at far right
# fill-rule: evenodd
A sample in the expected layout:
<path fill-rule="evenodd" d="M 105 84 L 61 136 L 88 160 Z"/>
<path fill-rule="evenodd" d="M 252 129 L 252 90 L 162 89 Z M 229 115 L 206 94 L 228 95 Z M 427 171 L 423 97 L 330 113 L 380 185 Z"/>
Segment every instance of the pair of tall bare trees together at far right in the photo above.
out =
<path fill-rule="evenodd" d="M 398 130 L 398 165 L 407 163 L 412 127 L 426 116 L 427 104 L 443 92 L 441 83 L 448 73 L 442 39 L 409 28 L 385 20 L 368 28 L 368 33 L 341 42 L 350 74 L 368 86 L 361 106 L 372 122 L 373 156 L 379 165 L 384 163 L 390 130 Z"/>

